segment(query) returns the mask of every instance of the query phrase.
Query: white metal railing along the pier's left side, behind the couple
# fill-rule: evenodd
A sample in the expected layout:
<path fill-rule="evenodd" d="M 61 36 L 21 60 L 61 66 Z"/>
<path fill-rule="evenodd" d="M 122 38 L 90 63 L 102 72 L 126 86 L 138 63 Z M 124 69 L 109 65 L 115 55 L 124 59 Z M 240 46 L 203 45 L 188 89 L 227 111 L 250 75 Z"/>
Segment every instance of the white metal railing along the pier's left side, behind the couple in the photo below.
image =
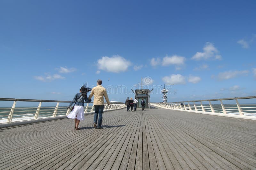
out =
<path fill-rule="evenodd" d="M 59 100 L 34 100 L 34 99 L 14 99 L 0 98 L 0 101 L 13 101 L 12 107 L 0 107 L 0 124 L 10 124 L 13 122 L 40 120 L 46 118 L 66 117 L 71 110 L 67 109 L 70 101 Z M 39 102 L 38 107 L 15 107 L 17 102 Z M 54 104 L 54 106 L 42 106 L 42 103 Z M 56 105 L 56 106 L 55 106 Z M 65 105 L 65 106 L 60 106 Z M 85 103 L 84 114 L 94 111 L 93 103 Z M 104 111 L 125 108 L 122 102 L 104 104 Z"/>

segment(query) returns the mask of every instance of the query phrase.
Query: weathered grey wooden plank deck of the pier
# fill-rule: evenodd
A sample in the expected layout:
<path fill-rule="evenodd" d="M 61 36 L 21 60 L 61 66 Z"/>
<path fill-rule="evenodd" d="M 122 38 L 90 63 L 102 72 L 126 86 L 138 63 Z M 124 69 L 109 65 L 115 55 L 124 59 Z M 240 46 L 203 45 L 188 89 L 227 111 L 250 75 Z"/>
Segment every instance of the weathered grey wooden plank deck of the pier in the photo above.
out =
<path fill-rule="evenodd" d="M 256 121 L 152 107 L 0 129 L 0 169 L 256 169 Z"/>

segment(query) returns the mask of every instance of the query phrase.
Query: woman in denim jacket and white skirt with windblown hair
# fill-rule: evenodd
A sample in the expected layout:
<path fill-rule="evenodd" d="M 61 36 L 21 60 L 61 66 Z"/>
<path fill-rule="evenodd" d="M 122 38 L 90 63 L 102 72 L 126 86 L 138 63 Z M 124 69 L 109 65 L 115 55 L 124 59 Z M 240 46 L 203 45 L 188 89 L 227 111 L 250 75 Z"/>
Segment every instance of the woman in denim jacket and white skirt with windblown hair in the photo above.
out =
<path fill-rule="evenodd" d="M 72 106 L 72 104 L 75 103 L 74 110 L 72 110 L 67 117 L 71 119 L 75 119 L 76 130 L 79 130 L 78 125 L 80 123 L 80 120 L 84 120 L 84 101 L 86 103 L 89 103 L 92 101 L 92 100 L 88 101 L 88 98 L 87 98 L 87 92 L 89 91 L 91 91 L 91 89 L 83 85 L 80 88 L 80 92 L 76 93 L 75 97 L 68 105 L 68 109 L 70 109 L 70 106 Z"/>

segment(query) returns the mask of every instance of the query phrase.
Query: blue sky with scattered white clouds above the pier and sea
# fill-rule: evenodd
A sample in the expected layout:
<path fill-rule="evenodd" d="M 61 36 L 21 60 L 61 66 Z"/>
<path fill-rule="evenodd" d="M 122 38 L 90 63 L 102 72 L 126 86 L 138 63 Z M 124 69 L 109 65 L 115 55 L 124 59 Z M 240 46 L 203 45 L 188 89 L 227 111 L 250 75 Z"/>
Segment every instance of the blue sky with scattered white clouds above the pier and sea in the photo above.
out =
<path fill-rule="evenodd" d="M 255 96 L 255 9 L 253 0 L 3 0 L 1 97 L 71 100 L 102 79 L 110 100 L 124 101 L 141 77 L 153 102 L 164 83 L 174 84 L 168 102 Z"/>

